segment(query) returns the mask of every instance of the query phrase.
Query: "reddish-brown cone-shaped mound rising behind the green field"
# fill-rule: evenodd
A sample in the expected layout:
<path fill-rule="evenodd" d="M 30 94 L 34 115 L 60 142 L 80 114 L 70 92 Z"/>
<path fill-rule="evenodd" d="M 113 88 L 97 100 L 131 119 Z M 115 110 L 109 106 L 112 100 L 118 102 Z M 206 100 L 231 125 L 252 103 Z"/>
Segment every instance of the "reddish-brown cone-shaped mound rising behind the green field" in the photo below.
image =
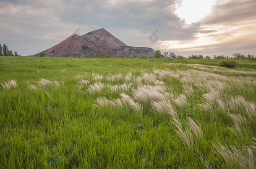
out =
<path fill-rule="evenodd" d="M 111 57 L 129 57 L 133 55 L 136 57 L 152 57 L 155 53 L 152 48 L 127 46 L 104 29 L 94 30 L 81 36 L 71 35 L 43 52 L 46 55 L 56 57 L 71 57 L 72 53 L 95 57 L 96 52 L 99 52 L 102 56 L 110 55 Z"/>

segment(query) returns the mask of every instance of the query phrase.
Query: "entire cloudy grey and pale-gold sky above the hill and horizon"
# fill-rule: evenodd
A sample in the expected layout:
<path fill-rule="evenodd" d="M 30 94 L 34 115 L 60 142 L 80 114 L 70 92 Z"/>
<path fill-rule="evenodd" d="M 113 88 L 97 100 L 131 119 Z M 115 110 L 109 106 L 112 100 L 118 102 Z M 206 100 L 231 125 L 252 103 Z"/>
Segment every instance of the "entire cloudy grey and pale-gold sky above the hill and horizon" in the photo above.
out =
<path fill-rule="evenodd" d="M 185 57 L 256 55 L 256 0 L 0 0 L 0 44 L 19 55 L 100 28 Z"/>

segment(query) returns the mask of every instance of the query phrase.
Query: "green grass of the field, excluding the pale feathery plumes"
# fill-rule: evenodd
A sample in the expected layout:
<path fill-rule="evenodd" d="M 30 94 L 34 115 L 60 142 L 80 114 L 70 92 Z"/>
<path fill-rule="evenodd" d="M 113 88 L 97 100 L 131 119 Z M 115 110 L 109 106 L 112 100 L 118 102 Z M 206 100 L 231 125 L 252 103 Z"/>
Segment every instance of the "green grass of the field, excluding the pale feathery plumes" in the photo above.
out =
<path fill-rule="evenodd" d="M 244 105 L 222 111 L 214 102 L 214 110 L 208 112 L 199 104 L 204 104 L 203 94 L 209 91 L 189 82 L 194 92 L 193 97 L 187 97 L 188 104 L 184 108 L 169 99 L 184 130 L 188 129 L 187 118 L 191 117 L 203 131 L 201 141 L 197 141 L 192 133 L 195 141 L 188 149 L 175 131 L 172 116 L 156 113 L 149 103 L 141 103 L 142 114 L 127 106 L 123 106 L 122 111 L 112 107 L 97 108 L 94 104 L 97 105 L 99 96 L 110 100 L 120 98 L 120 93 L 91 94 L 78 90 L 78 74 L 86 73 L 84 79 L 90 79 L 92 73 L 106 77 L 109 73 L 125 76 L 131 71 L 133 76 L 141 76 L 143 72 L 150 73 L 154 69 L 177 74 L 178 71 L 188 73 L 194 69 L 227 79 L 243 79 L 234 83 L 216 78 L 229 86 L 225 90 L 219 89 L 219 99 L 228 101 L 229 96 L 243 96 L 246 103 L 255 105 L 256 83 L 253 81 L 256 81 L 256 62 L 238 61 L 238 68 L 231 71 L 222 68 L 218 71 L 211 67 L 202 70 L 187 63 L 217 66 L 219 61 L 1 56 L 0 83 L 16 80 L 18 86 L 10 90 L 0 86 L 0 168 L 198 169 L 206 168 L 206 161 L 216 168 L 240 168 L 238 163 L 232 160 L 229 163 L 214 152 L 214 145 L 235 146 L 242 152 L 256 142 L 253 139 L 256 138 L 256 117 L 249 116 Z M 191 76 L 200 77 L 201 73 Z M 184 92 L 182 77 L 168 76 L 162 80 L 165 86 L 173 88 L 171 92 L 175 98 Z M 40 78 L 63 81 L 64 85 L 39 87 L 36 82 Z M 37 90 L 30 91 L 27 81 L 37 86 Z M 102 83 L 117 85 L 124 81 L 109 82 L 104 78 Z M 243 137 L 238 138 L 230 131 L 228 127 L 233 124 L 227 113 L 241 114 L 246 118 L 247 125 L 241 127 Z M 251 149 L 255 166 L 256 153 Z"/>

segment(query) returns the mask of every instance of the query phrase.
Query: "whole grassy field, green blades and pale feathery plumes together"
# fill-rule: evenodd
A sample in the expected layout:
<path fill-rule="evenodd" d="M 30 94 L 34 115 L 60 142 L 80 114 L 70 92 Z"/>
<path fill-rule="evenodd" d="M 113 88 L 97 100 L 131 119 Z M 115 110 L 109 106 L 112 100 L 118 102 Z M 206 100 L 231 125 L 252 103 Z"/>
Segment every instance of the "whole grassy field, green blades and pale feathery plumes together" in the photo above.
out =
<path fill-rule="evenodd" d="M 256 62 L 0 57 L 0 168 L 256 167 Z"/>

